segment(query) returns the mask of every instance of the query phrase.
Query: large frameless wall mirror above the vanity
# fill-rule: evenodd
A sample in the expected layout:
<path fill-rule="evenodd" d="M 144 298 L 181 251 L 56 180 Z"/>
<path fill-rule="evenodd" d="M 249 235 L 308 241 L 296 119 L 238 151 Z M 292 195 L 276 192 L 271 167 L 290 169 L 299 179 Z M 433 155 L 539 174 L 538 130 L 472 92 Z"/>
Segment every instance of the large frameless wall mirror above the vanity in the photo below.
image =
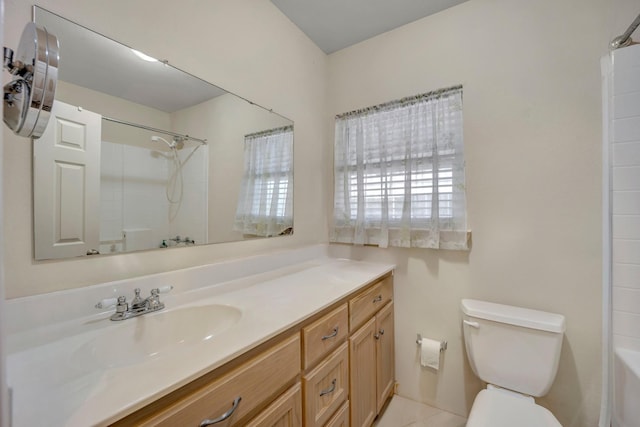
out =
<path fill-rule="evenodd" d="M 293 122 L 35 6 L 60 43 L 33 141 L 36 259 L 293 232 Z"/>

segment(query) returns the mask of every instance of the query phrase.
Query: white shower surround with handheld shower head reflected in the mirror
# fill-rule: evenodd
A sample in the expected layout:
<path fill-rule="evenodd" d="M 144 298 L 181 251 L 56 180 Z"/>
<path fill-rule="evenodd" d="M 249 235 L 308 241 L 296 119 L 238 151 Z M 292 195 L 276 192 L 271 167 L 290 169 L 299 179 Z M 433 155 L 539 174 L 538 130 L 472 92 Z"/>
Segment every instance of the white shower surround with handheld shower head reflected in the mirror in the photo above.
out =
<path fill-rule="evenodd" d="M 204 140 L 103 120 L 100 253 L 206 241 L 207 159 Z"/>

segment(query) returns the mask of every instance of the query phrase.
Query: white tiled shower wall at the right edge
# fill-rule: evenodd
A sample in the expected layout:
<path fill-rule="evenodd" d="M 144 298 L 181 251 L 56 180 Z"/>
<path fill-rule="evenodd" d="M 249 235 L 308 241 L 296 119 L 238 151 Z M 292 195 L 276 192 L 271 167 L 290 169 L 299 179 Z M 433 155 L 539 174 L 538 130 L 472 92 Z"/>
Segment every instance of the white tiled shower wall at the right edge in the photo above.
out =
<path fill-rule="evenodd" d="M 616 50 L 613 64 L 613 345 L 640 351 L 640 45 Z"/>

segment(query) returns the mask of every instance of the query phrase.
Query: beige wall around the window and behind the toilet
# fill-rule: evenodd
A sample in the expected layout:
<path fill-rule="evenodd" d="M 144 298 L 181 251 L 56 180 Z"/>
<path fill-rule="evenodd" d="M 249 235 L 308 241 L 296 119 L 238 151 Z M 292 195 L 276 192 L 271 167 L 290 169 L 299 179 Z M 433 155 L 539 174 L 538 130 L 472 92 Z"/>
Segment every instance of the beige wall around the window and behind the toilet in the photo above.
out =
<path fill-rule="evenodd" d="M 566 316 L 558 376 L 540 402 L 566 427 L 597 424 L 599 60 L 640 12 L 630 1 L 613 6 L 471 0 L 329 56 L 328 128 L 338 113 L 464 85 L 471 251 L 333 248 L 398 264 L 400 394 L 467 414 L 482 385 L 465 360 L 460 299 L 485 299 Z M 610 30 L 623 8 L 629 22 Z M 448 341 L 438 374 L 420 368 L 416 333 Z"/>

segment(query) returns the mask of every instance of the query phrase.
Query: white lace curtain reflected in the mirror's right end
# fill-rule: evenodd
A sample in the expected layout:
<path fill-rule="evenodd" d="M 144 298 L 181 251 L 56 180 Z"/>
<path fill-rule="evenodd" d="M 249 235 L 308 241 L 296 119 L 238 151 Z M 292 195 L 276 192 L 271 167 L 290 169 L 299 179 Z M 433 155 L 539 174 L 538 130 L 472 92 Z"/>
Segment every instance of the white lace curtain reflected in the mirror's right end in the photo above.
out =
<path fill-rule="evenodd" d="M 277 236 L 293 230 L 293 126 L 246 135 L 234 230 Z"/>

